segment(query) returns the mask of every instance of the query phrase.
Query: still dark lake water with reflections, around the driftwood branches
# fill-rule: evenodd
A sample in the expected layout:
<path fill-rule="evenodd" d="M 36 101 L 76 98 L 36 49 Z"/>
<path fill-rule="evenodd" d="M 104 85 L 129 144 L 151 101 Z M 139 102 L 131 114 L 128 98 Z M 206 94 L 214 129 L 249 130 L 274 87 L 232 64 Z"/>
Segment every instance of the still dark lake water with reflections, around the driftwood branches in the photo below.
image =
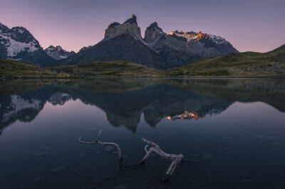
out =
<path fill-rule="evenodd" d="M 285 188 L 284 80 L 0 82 L 0 188 Z M 78 138 L 117 143 L 79 144 Z M 185 157 L 171 161 L 144 137 Z M 190 161 L 191 160 L 191 161 Z"/>

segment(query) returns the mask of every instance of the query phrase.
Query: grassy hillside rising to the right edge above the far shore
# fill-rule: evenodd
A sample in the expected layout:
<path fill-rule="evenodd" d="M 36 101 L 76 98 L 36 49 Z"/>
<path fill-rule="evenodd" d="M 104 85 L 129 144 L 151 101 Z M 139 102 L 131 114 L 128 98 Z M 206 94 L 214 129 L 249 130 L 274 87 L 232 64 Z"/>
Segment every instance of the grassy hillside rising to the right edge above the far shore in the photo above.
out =
<path fill-rule="evenodd" d="M 229 53 L 167 70 L 172 77 L 285 77 L 285 45 L 268 53 Z"/>

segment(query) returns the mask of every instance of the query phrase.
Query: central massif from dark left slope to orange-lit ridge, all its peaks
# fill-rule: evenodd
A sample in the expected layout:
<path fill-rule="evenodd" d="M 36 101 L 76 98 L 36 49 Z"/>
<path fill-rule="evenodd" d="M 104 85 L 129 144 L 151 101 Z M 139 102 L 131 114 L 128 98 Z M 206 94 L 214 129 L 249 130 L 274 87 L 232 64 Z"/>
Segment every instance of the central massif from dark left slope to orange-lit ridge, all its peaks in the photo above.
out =
<path fill-rule="evenodd" d="M 202 58 L 226 55 L 229 52 L 238 53 L 224 38 L 202 32 L 175 31 L 167 34 L 156 22 L 147 27 L 145 38 L 142 38 L 137 17 L 133 14 L 122 24 L 110 23 L 105 29 L 102 41 L 66 58 L 61 64 L 126 60 L 150 68 L 167 70 Z"/>

